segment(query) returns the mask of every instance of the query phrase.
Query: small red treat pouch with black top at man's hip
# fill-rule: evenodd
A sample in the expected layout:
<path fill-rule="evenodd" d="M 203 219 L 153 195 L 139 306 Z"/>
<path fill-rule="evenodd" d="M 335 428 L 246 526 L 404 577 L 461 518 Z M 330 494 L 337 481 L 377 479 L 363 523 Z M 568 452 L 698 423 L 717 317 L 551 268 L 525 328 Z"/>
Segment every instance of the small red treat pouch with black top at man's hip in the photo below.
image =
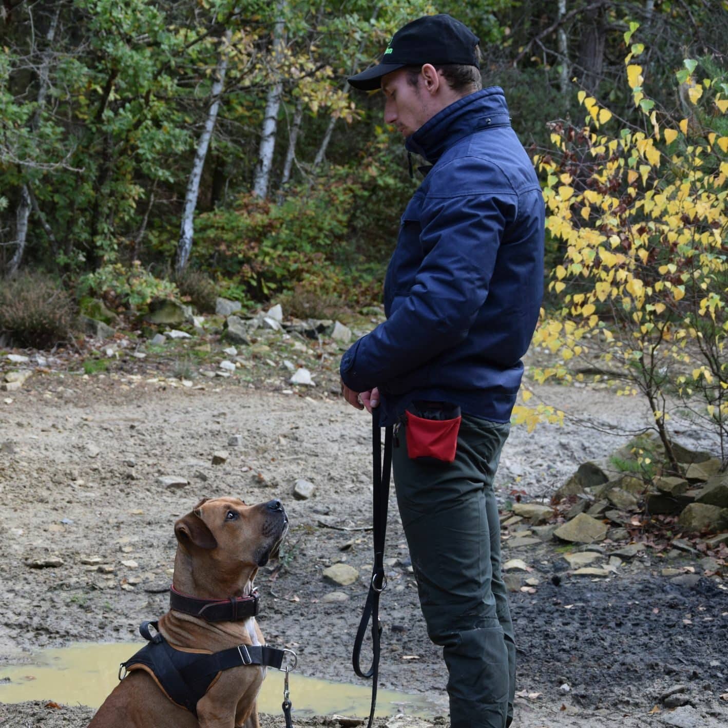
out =
<path fill-rule="evenodd" d="M 407 454 L 411 459 L 453 462 L 460 430 L 460 408 L 447 402 L 413 402 L 405 411 Z"/>

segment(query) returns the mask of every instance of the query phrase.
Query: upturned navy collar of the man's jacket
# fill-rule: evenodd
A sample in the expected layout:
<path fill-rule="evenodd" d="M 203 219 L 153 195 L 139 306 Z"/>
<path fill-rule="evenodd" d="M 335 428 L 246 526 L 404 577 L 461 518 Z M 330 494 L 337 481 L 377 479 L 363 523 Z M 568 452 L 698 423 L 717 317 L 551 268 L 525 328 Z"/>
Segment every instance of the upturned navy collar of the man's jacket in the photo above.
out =
<path fill-rule="evenodd" d="M 433 164 L 456 141 L 487 127 L 510 125 L 505 95 L 499 86 L 463 96 L 422 124 L 405 142 L 407 151 Z"/>

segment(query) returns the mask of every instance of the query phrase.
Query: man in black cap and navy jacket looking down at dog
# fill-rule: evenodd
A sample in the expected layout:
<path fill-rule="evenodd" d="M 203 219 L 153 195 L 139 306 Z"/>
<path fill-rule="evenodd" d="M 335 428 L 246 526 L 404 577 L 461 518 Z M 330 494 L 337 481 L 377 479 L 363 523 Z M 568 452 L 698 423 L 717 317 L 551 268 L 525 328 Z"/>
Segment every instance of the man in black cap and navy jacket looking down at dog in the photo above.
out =
<path fill-rule="evenodd" d="M 405 25 L 349 84 L 381 87 L 384 121 L 432 166 L 402 216 L 387 321 L 344 354 L 341 389 L 398 426 L 397 503 L 451 726 L 504 728 L 515 641 L 493 480 L 542 298 L 542 194 L 502 90 L 481 90 L 478 38 L 449 15 Z M 427 451 L 453 424 L 454 454 Z"/>

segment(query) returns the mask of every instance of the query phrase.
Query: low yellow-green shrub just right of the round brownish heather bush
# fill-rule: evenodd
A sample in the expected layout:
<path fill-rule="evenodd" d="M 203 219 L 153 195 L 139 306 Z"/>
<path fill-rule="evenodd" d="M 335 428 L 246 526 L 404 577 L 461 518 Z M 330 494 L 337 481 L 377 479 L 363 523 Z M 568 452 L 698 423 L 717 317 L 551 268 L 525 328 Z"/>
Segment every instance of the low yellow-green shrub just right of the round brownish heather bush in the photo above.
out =
<path fill-rule="evenodd" d="M 134 261 L 128 268 L 120 263 L 101 266 L 97 271 L 79 279 L 79 296 L 101 296 L 114 307 L 138 309 L 154 298 L 178 296 L 177 286 L 168 280 L 156 278 Z"/>

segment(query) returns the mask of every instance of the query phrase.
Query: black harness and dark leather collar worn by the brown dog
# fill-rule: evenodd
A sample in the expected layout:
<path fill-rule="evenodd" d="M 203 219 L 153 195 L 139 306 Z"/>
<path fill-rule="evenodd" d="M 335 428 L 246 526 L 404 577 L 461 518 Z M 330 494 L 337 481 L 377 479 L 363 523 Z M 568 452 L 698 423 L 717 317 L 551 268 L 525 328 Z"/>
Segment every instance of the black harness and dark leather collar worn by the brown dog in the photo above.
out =
<path fill-rule="evenodd" d="M 258 593 L 253 593 L 250 597 L 212 601 L 183 595 L 172 587 L 170 607 L 175 611 L 194 614 L 195 617 L 202 617 L 210 622 L 242 620 L 258 614 Z M 150 626 L 157 632 L 154 636 L 149 631 Z M 197 717 L 197 701 L 213 686 L 223 670 L 241 665 L 261 665 L 285 670 L 286 690 L 283 711 L 286 726 L 291 725 L 288 673 L 296 667 L 298 660 L 289 649 L 240 644 L 220 652 L 205 654 L 173 647 L 159 633 L 157 622 L 142 622 L 139 625 L 139 633 L 149 641 L 149 644 L 119 665 L 119 680 L 132 670 L 144 670 L 169 700 Z M 293 657 L 293 665 L 284 666 L 286 654 Z"/>

